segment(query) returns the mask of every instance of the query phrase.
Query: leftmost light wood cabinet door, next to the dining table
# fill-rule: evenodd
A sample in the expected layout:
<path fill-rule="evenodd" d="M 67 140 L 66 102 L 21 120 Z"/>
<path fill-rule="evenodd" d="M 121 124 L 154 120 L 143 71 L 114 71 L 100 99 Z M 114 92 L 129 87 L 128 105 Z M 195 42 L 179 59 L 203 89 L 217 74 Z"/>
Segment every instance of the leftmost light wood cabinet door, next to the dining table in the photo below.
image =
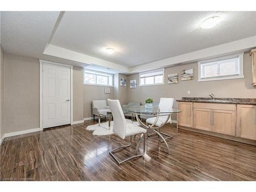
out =
<path fill-rule="evenodd" d="M 193 103 L 178 102 L 178 109 L 181 110 L 178 114 L 178 125 L 193 127 Z"/>

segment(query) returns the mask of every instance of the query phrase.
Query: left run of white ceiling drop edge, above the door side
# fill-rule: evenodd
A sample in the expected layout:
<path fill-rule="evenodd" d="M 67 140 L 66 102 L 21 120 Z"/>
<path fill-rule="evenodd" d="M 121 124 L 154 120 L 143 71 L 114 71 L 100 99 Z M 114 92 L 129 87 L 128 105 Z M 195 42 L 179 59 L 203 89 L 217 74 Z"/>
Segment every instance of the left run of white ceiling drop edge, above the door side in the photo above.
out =
<path fill-rule="evenodd" d="M 86 54 L 78 53 L 69 49 L 64 49 L 51 44 L 47 44 L 44 54 L 74 60 L 82 63 L 87 63 L 89 65 L 94 64 L 105 68 L 114 69 L 122 73 L 130 73 L 130 68 L 118 65 L 117 63 L 99 59 L 97 57 L 92 57 Z"/>

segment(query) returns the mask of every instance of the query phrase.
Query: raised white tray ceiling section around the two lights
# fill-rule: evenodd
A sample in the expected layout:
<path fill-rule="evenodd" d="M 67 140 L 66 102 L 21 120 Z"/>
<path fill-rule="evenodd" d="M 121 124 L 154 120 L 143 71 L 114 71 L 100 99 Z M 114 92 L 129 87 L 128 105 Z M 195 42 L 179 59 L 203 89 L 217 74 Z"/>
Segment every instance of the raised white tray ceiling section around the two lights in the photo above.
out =
<path fill-rule="evenodd" d="M 218 26 L 199 28 L 216 15 Z M 65 12 L 50 43 L 133 67 L 254 35 L 256 12 Z"/>

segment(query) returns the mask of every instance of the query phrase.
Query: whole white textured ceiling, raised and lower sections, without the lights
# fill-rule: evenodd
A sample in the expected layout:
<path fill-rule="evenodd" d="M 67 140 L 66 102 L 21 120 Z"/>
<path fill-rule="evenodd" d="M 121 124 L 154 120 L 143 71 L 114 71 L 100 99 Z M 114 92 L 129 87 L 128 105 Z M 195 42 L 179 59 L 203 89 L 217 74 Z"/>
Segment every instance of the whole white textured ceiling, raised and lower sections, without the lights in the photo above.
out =
<path fill-rule="evenodd" d="M 134 67 L 256 35 L 256 12 L 64 12 L 60 15 L 58 11 L 2 11 L 1 46 L 8 53 L 74 66 L 94 63 L 91 68 L 104 71 L 110 67 L 90 60 L 43 54 L 49 39 L 52 45 L 96 57 L 94 60 L 100 58 L 113 65 Z M 214 15 L 221 18 L 218 26 L 199 29 L 203 20 Z M 106 54 L 106 47 L 116 52 Z"/>

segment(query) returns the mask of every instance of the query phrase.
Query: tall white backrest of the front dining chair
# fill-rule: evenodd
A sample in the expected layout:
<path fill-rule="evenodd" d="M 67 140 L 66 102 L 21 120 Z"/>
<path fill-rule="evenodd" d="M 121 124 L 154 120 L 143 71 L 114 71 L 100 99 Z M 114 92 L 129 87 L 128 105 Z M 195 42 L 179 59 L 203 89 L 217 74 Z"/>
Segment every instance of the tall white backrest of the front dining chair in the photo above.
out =
<path fill-rule="evenodd" d="M 108 99 L 110 110 L 114 118 L 113 132 L 122 139 L 125 138 L 126 133 L 126 121 L 123 115 L 119 100 Z"/>

